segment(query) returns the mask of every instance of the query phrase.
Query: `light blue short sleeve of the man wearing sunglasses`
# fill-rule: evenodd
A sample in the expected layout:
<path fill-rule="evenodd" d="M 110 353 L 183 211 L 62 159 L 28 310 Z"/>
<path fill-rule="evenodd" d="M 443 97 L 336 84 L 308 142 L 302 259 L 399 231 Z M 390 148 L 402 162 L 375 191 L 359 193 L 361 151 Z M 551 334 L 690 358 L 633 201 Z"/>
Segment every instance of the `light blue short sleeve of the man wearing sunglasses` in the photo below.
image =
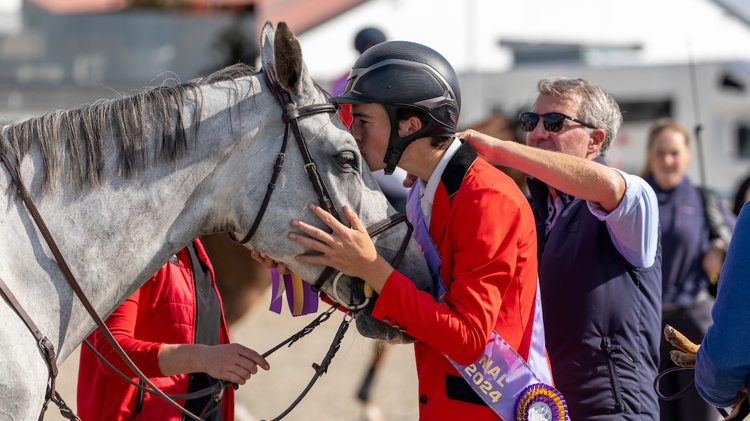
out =
<path fill-rule="evenodd" d="M 591 213 L 607 223 L 617 251 L 631 265 L 648 268 L 659 246 L 659 204 L 654 189 L 641 177 L 612 168 L 625 180 L 625 195 L 612 212 L 597 202 L 586 202 Z"/>

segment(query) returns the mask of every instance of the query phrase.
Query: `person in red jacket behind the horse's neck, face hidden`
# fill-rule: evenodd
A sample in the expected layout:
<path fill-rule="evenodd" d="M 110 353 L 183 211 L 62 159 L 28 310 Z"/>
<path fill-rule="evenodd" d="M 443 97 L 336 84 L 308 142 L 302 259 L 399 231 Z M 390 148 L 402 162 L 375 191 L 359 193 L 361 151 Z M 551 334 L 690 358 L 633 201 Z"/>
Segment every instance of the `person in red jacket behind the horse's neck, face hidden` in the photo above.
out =
<path fill-rule="evenodd" d="M 229 343 L 214 271 L 200 239 L 180 250 L 106 320 L 136 366 L 167 394 L 186 394 L 218 380 L 245 384 L 268 362 L 257 352 Z M 118 370 L 133 376 L 99 329 L 88 341 Z M 218 379 L 218 380 L 217 380 Z M 200 414 L 211 397 L 177 401 Z M 182 420 L 182 413 L 156 395 L 139 392 L 81 349 L 78 413 L 82 421 Z M 206 418 L 234 419 L 234 390 Z"/>

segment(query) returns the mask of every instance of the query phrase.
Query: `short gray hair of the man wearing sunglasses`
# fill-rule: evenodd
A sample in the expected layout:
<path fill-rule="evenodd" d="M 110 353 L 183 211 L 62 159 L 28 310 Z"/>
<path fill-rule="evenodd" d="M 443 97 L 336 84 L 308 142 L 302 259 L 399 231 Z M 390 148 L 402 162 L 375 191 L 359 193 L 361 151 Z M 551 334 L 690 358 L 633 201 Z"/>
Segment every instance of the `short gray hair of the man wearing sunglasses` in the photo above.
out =
<path fill-rule="evenodd" d="M 620 106 L 612 95 L 593 82 L 567 77 L 542 79 L 537 84 L 537 89 L 543 95 L 567 100 L 580 99 L 580 115 L 573 117 L 604 130 L 606 137 L 599 148 L 599 155 L 607 156 L 607 151 L 622 124 Z"/>

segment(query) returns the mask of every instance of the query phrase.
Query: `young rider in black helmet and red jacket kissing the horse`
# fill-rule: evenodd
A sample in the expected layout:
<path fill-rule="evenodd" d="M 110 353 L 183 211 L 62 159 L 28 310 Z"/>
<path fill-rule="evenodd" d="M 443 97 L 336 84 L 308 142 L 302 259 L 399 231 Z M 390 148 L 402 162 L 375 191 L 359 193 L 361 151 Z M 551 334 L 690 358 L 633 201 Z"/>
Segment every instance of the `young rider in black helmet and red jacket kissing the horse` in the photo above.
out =
<path fill-rule="evenodd" d="M 350 130 L 370 170 L 398 165 L 419 177 L 406 210 L 436 293 L 378 255 L 348 206 L 351 228 L 314 204 L 332 232 L 291 222 L 304 235 L 289 238 L 320 252 L 297 259 L 362 278 L 379 294 L 372 316 L 419 339 L 420 419 L 567 419 L 545 354 L 534 215 L 511 178 L 455 137 L 451 65 L 424 45 L 384 42 L 360 56 L 333 100 L 352 104 Z"/>

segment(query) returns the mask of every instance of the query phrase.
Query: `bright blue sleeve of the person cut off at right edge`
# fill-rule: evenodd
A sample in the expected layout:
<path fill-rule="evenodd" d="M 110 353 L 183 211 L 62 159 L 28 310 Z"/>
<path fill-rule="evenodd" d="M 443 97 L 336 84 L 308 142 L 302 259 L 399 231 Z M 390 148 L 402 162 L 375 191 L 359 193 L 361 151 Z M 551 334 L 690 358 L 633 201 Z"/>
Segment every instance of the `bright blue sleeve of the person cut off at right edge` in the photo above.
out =
<path fill-rule="evenodd" d="M 719 291 L 695 365 L 698 393 L 716 407 L 737 402 L 750 376 L 750 206 L 737 218 Z"/>

